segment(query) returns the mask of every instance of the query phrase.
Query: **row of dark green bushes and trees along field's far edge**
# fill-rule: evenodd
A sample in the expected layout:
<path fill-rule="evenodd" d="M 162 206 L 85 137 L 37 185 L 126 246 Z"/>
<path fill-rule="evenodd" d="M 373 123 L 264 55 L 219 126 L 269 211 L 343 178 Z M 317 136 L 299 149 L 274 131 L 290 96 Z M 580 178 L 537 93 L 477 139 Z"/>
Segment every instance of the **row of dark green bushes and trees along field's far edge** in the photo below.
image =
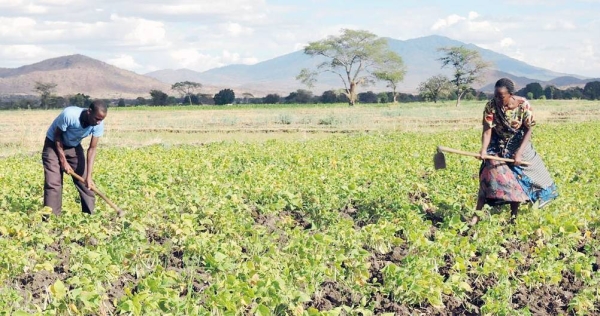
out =
<path fill-rule="evenodd" d="M 426 86 L 426 87 L 425 87 Z M 360 92 L 356 95 L 355 103 L 390 103 L 395 99 L 397 102 L 437 102 L 456 101 L 458 95 L 449 80 L 435 76 L 421 83 L 420 93 L 388 92 Z M 548 100 L 600 100 L 600 81 L 588 82 L 584 88 L 571 87 L 559 89 L 548 85 L 542 87 L 539 83 L 527 84 L 516 92 L 517 95 L 528 99 Z M 464 100 L 486 101 L 492 97 L 473 88 L 465 89 L 461 98 Z M 215 98 L 217 100 L 215 100 Z M 0 109 L 54 109 L 64 108 L 69 105 L 88 107 L 93 98 L 83 93 L 61 97 L 49 95 L 46 99 L 28 96 L 6 96 L 0 101 Z M 313 94 L 306 89 L 298 89 L 290 92 L 287 96 L 280 94 L 268 94 L 264 97 L 255 97 L 250 93 L 243 93 L 237 97 L 232 89 L 223 89 L 216 95 L 190 92 L 186 95 L 169 95 L 160 90 L 150 91 L 150 98 L 138 97 L 136 99 L 105 99 L 106 104 L 117 107 L 129 106 L 167 106 L 167 105 L 224 105 L 224 104 L 332 104 L 348 103 L 348 97 L 344 91 L 327 90 L 322 94 Z"/>

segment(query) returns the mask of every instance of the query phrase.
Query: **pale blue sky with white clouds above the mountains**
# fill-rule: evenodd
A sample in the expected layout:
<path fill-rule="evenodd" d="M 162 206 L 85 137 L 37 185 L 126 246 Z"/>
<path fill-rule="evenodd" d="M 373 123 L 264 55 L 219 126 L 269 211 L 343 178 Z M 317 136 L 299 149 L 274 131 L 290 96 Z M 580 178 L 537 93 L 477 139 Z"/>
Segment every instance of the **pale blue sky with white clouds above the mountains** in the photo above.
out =
<path fill-rule="evenodd" d="M 143 74 L 254 64 L 363 29 L 600 77 L 600 0 L 0 0 L 0 67 L 83 54 Z"/>

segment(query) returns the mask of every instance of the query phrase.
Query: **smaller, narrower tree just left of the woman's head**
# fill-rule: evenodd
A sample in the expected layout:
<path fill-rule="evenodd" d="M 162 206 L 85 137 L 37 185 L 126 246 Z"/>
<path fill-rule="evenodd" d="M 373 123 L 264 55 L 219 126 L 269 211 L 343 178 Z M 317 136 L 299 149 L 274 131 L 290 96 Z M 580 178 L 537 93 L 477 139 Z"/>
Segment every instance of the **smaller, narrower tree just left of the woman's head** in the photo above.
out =
<path fill-rule="evenodd" d="M 479 52 L 468 49 L 464 46 L 442 47 L 438 51 L 443 52 L 444 56 L 439 60 L 442 62 L 442 68 L 452 67 L 452 84 L 456 89 L 456 106 L 460 104 L 460 98 L 471 85 L 481 80 L 483 73 L 491 66 L 481 58 Z"/>

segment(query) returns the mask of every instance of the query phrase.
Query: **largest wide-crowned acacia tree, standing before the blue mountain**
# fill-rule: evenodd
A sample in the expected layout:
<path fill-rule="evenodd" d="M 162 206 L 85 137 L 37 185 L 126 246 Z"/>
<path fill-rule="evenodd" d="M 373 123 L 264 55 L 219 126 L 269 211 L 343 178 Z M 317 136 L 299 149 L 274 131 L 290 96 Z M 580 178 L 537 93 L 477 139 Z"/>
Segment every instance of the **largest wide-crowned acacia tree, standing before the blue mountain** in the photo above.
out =
<path fill-rule="evenodd" d="M 325 61 L 316 70 L 302 69 L 296 79 L 312 87 L 317 75 L 333 73 L 344 84 L 348 103 L 354 105 L 357 87 L 374 81 L 372 72 L 389 57 L 390 50 L 384 38 L 369 31 L 342 29 L 341 33 L 339 36 L 332 35 L 321 41 L 310 42 L 304 48 L 305 54 L 324 57 Z"/>

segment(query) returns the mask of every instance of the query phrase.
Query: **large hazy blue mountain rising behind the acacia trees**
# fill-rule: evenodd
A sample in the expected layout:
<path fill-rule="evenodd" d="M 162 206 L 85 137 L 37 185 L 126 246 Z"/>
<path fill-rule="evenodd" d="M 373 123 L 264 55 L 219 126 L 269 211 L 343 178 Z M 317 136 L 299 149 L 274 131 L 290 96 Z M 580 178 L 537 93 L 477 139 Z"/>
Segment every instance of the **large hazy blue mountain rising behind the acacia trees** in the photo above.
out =
<path fill-rule="evenodd" d="M 406 41 L 391 38 L 387 40 L 390 48 L 402 56 L 407 67 L 405 80 L 400 85 L 400 90 L 403 92 L 415 92 L 420 82 L 433 75 L 450 74 L 450 70 L 440 69 L 441 64 L 437 61 L 441 56 L 437 49 L 446 46 L 464 45 L 476 49 L 485 60 L 493 63 L 494 70 L 485 76 L 484 82 L 476 85 L 477 88 L 487 87 L 504 75 L 515 79 L 518 86 L 532 81 L 544 82 L 557 77 L 572 78 L 561 84 L 561 86 L 564 86 L 584 79 L 580 76 L 567 75 L 531 66 L 506 55 L 443 36 L 432 35 Z M 300 73 L 302 68 L 314 68 L 320 61 L 322 59 L 311 58 L 302 51 L 296 51 L 254 65 L 229 65 L 205 72 L 195 72 L 189 69 L 160 70 L 146 75 L 167 83 L 190 80 L 234 89 L 251 89 L 264 93 L 287 93 L 304 88 L 295 79 L 296 75 Z M 335 75 L 328 74 L 319 77 L 315 88 L 312 90 L 319 93 L 324 90 L 339 88 L 341 88 L 340 79 Z M 383 90 L 385 86 L 378 84 L 375 87 L 363 87 L 360 90 L 366 91 L 369 89 Z"/>

